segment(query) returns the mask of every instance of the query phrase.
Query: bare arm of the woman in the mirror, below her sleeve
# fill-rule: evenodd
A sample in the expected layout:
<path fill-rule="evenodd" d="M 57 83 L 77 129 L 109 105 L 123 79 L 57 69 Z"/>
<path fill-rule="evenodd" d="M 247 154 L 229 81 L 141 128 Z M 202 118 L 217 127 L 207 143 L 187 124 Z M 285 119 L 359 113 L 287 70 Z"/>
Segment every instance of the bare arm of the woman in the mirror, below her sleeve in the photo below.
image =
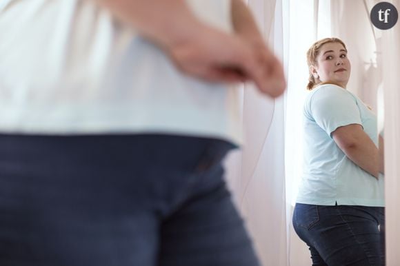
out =
<path fill-rule="evenodd" d="M 340 149 L 363 170 L 378 178 L 380 170 L 379 150 L 361 125 L 338 127 L 332 137 Z"/>

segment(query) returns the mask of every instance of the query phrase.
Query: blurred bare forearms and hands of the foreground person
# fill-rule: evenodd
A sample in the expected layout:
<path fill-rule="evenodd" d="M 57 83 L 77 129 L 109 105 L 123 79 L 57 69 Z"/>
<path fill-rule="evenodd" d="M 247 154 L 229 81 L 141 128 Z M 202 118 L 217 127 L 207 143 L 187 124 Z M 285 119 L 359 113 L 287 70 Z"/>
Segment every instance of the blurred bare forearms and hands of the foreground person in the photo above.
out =
<path fill-rule="evenodd" d="M 254 81 L 261 92 L 272 97 L 286 88 L 283 68 L 274 54 L 265 45 L 254 49 L 244 37 L 246 30 L 257 31 L 257 27 L 240 1 L 232 1 L 237 34 L 201 23 L 184 0 L 92 1 L 159 45 L 186 74 L 217 82 Z"/>

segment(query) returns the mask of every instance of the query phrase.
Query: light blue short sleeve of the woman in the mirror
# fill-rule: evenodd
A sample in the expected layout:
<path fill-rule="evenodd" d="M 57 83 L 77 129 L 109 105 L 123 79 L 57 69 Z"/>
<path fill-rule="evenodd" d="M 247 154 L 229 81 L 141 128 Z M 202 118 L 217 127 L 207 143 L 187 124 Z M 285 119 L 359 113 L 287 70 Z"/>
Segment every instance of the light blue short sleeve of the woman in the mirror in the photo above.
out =
<path fill-rule="evenodd" d="M 350 92 L 337 85 L 324 85 L 310 98 L 310 114 L 331 136 L 338 127 L 361 123 L 357 101 Z"/>

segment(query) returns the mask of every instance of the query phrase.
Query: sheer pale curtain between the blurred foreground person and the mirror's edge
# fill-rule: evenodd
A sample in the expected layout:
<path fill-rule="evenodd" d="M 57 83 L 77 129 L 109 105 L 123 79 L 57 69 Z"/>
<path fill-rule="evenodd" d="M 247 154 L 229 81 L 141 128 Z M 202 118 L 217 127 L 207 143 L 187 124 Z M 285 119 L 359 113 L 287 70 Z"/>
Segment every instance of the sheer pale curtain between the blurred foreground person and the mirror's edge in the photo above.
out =
<path fill-rule="evenodd" d="M 282 1 L 249 0 L 259 27 L 283 59 Z M 287 265 L 284 169 L 285 102 L 243 88 L 245 145 L 230 154 L 228 181 L 263 265 Z"/>

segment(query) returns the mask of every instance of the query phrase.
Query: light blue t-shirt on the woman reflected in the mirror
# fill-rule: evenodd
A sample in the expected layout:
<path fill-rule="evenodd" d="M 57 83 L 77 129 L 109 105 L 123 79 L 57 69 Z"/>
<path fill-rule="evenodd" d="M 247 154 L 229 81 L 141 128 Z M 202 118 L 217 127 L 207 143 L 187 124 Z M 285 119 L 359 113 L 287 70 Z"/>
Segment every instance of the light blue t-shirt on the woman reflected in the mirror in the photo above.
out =
<path fill-rule="evenodd" d="M 350 161 L 332 139 L 338 127 L 359 124 L 377 145 L 375 114 L 357 96 L 331 84 L 314 88 L 303 112 L 304 167 L 297 203 L 383 207 L 383 178 Z"/>

